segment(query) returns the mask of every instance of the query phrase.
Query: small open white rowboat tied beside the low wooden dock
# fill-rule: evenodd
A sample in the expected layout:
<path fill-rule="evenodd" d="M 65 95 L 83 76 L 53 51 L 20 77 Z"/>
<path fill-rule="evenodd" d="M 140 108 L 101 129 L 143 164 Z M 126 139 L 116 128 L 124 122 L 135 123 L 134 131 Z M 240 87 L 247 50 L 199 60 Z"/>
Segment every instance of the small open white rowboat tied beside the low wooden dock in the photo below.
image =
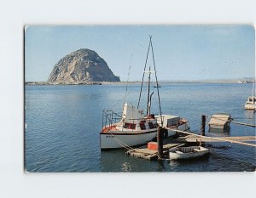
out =
<path fill-rule="evenodd" d="M 202 146 L 179 147 L 169 150 L 169 158 L 170 160 L 185 160 L 205 156 L 208 153 L 209 150 Z"/>

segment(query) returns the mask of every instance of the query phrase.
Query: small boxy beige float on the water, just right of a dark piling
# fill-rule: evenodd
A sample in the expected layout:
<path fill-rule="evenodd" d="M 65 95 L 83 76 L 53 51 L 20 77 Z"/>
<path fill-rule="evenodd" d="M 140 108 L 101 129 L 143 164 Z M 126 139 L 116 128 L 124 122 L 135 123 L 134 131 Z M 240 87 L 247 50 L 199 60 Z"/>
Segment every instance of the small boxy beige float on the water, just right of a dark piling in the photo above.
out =
<path fill-rule="evenodd" d="M 231 116 L 229 114 L 214 114 L 208 123 L 210 128 L 225 129 L 230 127 Z"/>

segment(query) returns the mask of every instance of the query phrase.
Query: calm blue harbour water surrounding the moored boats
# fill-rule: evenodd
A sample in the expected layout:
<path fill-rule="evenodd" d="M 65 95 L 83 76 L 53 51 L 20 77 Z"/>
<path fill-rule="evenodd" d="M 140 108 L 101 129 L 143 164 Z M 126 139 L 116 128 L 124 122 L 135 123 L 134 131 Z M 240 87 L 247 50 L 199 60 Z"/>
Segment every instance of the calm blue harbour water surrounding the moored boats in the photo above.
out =
<path fill-rule="evenodd" d="M 137 105 L 139 85 L 128 87 L 126 101 Z M 125 156 L 125 150 L 101 152 L 102 110 L 122 110 L 123 85 L 26 86 L 25 163 L 28 172 L 191 172 L 254 171 L 255 147 L 230 143 L 206 144 L 211 155 L 194 161 L 147 161 Z M 152 112 L 158 112 L 157 92 Z M 237 122 L 255 124 L 255 113 L 244 110 L 252 84 L 169 83 L 160 88 L 163 113 L 189 119 L 199 132 L 201 115 L 230 113 Z M 145 109 L 146 97 L 140 108 Z M 154 106 L 155 105 L 155 106 Z M 255 135 L 255 128 L 231 124 L 230 133 Z"/>

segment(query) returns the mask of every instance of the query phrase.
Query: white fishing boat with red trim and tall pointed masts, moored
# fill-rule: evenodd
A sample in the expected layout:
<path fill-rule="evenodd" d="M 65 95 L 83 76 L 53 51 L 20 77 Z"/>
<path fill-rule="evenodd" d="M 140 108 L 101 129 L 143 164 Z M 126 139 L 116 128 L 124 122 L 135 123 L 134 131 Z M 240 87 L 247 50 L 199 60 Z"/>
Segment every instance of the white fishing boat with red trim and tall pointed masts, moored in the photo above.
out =
<path fill-rule="evenodd" d="M 150 37 L 148 51 L 149 48 L 152 49 L 153 54 L 153 46 Z M 148 142 L 155 139 L 157 133 L 157 127 L 166 127 L 168 128 L 167 133 L 165 133 L 165 137 L 170 137 L 176 134 L 176 132 L 172 131 L 172 129 L 178 130 L 189 130 L 189 122 L 179 116 L 172 115 L 162 115 L 160 108 L 160 93 L 159 93 L 159 84 L 157 81 L 155 65 L 154 71 L 146 71 L 148 60 L 148 54 L 146 59 L 146 64 L 144 66 L 144 74 L 148 73 L 148 102 L 147 102 L 147 112 L 144 114 L 143 110 L 139 108 L 141 93 L 143 89 L 143 81 L 141 85 L 141 91 L 139 95 L 138 105 L 137 107 L 128 103 L 124 103 L 123 111 L 119 115 L 113 110 L 103 110 L 102 115 L 102 131 L 100 132 L 100 144 L 101 150 L 111 150 L 118 148 L 129 148 L 131 146 L 147 144 Z M 155 74 L 155 82 L 158 93 L 158 101 L 159 101 L 159 109 L 160 115 L 155 116 L 151 113 L 151 98 L 153 93 L 150 93 L 150 74 Z"/>

